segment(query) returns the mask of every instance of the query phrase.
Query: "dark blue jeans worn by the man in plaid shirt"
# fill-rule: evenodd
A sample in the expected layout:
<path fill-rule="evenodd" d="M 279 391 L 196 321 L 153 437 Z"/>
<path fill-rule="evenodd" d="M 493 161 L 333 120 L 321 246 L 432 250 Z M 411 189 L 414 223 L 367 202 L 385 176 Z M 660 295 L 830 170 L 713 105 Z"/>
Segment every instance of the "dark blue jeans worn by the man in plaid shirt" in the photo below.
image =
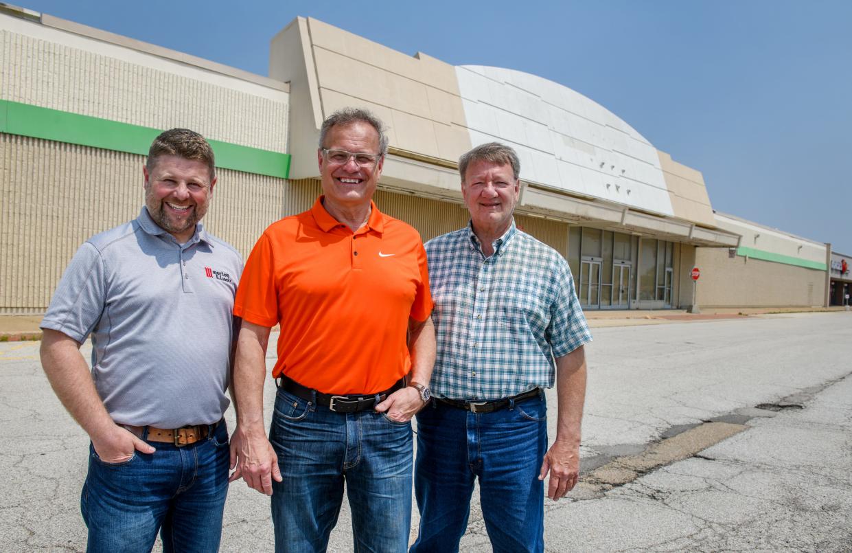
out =
<path fill-rule="evenodd" d="M 547 450 L 544 393 L 476 414 L 432 401 L 417 413 L 414 492 L 420 532 L 412 553 L 458 551 L 479 479 L 482 517 L 495 552 L 544 551 Z"/>

